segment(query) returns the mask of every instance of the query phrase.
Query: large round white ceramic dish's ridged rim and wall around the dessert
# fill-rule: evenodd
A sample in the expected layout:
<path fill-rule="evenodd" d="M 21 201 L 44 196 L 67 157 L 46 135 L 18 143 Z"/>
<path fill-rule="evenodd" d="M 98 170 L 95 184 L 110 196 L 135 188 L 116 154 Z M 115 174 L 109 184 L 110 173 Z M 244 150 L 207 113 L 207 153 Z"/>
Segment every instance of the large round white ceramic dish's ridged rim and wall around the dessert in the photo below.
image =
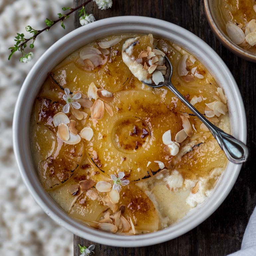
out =
<path fill-rule="evenodd" d="M 229 162 L 214 192 L 207 200 L 180 222 L 155 233 L 136 236 L 105 233 L 72 219 L 54 202 L 43 189 L 32 162 L 29 132 L 34 99 L 48 72 L 64 57 L 98 38 L 123 33 L 153 33 L 157 37 L 175 42 L 192 53 L 224 88 L 228 98 L 232 134 L 246 142 L 246 119 L 241 95 L 232 74 L 221 58 L 197 36 L 177 25 L 148 17 L 124 16 L 99 20 L 78 28 L 56 42 L 41 56 L 25 79 L 17 100 L 13 119 L 13 143 L 23 181 L 37 203 L 51 218 L 74 234 L 94 242 L 112 246 L 139 247 L 178 237 L 209 217 L 232 189 L 241 165 Z"/>

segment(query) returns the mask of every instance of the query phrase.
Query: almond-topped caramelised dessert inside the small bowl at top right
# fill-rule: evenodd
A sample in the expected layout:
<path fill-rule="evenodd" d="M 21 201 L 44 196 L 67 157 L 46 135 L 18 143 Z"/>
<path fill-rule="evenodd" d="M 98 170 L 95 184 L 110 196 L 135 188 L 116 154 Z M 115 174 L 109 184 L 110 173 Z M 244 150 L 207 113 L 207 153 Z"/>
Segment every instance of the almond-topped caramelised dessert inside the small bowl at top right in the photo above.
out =
<path fill-rule="evenodd" d="M 256 1 L 216 0 L 223 30 L 231 41 L 256 54 Z"/>

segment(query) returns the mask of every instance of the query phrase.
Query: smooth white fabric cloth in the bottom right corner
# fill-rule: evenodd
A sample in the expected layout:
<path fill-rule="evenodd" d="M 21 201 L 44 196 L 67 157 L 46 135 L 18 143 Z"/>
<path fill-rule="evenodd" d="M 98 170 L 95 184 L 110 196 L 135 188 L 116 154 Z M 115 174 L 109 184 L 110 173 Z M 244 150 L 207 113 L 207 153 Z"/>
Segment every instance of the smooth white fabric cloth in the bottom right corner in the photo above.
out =
<path fill-rule="evenodd" d="M 256 208 L 245 229 L 241 250 L 228 256 L 256 256 Z"/>

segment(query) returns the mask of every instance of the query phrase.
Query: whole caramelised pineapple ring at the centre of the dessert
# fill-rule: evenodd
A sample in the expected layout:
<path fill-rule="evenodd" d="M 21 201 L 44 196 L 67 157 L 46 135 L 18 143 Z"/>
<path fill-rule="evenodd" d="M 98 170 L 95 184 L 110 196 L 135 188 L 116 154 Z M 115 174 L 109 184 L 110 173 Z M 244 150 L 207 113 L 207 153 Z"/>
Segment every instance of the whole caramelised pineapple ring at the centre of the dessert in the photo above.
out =
<path fill-rule="evenodd" d="M 169 167 L 172 156 L 164 151 L 162 135 L 171 130 L 174 140 L 182 129 L 180 115 L 152 92 L 139 90 L 116 92 L 109 105 L 112 117 L 105 113 L 95 127 L 88 122 L 94 136 L 87 150 L 96 166 L 108 175 L 124 172 L 130 181 L 160 171 L 154 161 Z"/>

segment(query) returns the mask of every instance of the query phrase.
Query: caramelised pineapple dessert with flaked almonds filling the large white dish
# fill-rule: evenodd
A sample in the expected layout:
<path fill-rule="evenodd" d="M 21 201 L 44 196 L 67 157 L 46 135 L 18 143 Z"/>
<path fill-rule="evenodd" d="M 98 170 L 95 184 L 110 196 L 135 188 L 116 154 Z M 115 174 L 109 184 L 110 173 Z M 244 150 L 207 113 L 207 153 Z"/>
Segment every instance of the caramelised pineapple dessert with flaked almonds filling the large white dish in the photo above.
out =
<path fill-rule="evenodd" d="M 72 218 L 125 235 L 184 218 L 212 192 L 227 159 L 210 131 L 167 88 L 172 82 L 230 132 L 227 99 L 189 52 L 153 35 L 115 35 L 74 51 L 34 102 L 31 148 L 44 189 Z"/>

